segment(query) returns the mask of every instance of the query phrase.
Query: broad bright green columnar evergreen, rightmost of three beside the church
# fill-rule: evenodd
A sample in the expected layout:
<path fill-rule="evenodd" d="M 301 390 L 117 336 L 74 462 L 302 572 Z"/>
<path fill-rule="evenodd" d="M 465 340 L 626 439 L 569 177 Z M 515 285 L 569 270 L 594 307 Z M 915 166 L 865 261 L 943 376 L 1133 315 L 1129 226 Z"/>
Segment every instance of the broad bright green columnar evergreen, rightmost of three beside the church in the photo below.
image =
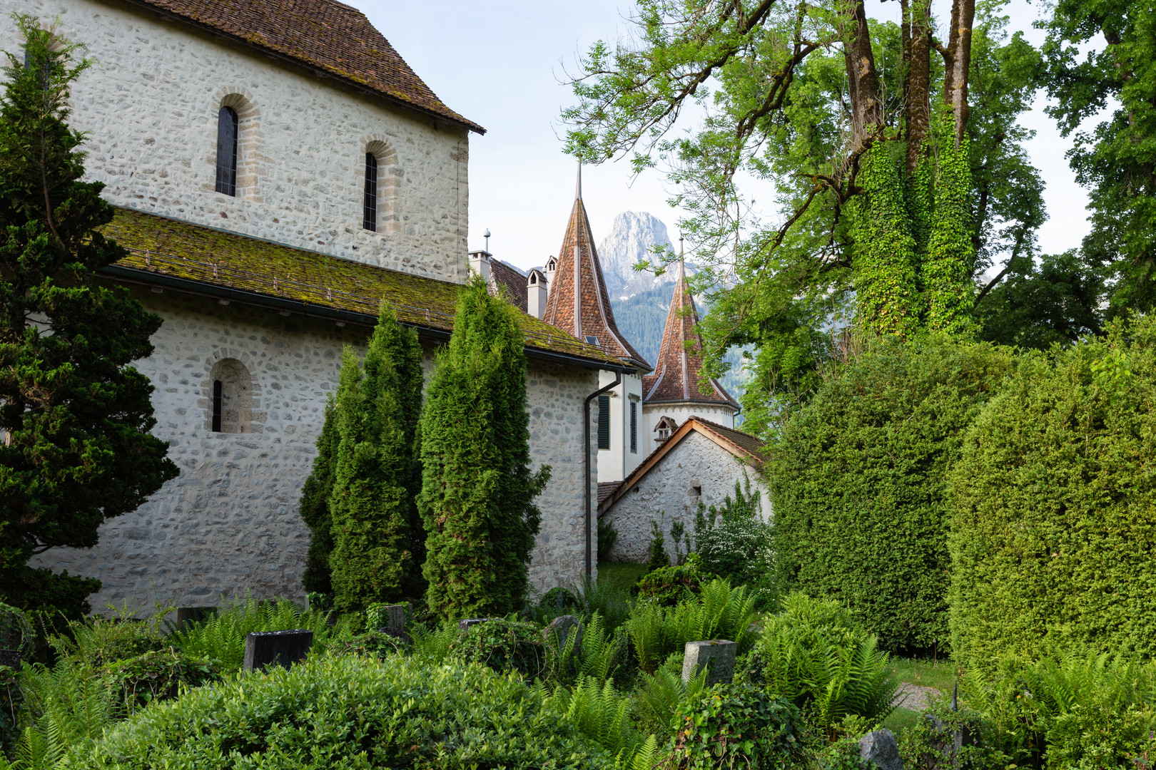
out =
<path fill-rule="evenodd" d="M 529 470 L 525 341 L 514 311 L 481 279 L 465 286 L 422 419 L 422 492 L 430 610 L 443 618 L 505 614 L 528 588 L 550 478 Z"/>

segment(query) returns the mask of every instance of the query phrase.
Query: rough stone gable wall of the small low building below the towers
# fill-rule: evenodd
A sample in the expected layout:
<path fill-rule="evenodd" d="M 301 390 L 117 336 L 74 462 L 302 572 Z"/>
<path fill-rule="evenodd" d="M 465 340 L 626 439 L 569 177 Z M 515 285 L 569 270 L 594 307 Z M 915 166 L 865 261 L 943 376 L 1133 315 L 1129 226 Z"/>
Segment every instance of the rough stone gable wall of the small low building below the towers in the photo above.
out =
<path fill-rule="evenodd" d="M 735 481 L 746 485 L 747 478 L 751 489 L 758 489 L 763 499 L 763 516 L 769 517 L 770 498 L 758 473 L 702 433 L 692 431 L 605 514 L 603 517 L 609 517 L 618 531 L 618 539 L 610 548 L 608 559 L 647 561 L 652 519 L 662 522 L 666 550 L 673 558 L 670 525 L 682 521 L 687 531 L 694 533 L 699 501 L 694 488 L 702 488 L 702 501 L 707 507 L 719 506 L 727 495 L 734 495 Z M 665 511 L 665 516 L 660 511 Z"/>

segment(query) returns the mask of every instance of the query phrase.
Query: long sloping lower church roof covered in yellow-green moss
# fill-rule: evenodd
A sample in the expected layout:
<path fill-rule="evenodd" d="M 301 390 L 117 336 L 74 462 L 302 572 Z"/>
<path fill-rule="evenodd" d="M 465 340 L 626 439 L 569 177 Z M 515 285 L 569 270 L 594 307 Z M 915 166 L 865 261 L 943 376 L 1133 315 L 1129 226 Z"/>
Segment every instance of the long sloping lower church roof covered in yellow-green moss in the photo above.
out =
<path fill-rule="evenodd" d="M 132 209 L 104 234 L 128 249 L 118 267 L 376 316 L 381 300 L 410 326 L 453 330 L 459 284 L 272 244 Z M 622 366 L 593 345 L 519 312 L 526 347 Z"/>

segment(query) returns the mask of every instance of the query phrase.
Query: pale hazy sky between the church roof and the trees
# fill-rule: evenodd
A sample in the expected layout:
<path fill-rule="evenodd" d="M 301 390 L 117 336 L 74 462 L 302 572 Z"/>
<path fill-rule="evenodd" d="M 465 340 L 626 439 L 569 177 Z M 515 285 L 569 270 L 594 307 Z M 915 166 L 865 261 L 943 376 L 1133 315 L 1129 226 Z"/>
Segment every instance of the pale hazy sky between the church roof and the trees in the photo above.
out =
<path fill-rule="evenodd" d="M 469 247 L 481 248 L 489 229 L 490 251 L 521 268 L 542 264 L 557 252 L 573 202 L 575 162 L 562 154 L 560 110 L 573 102 L 560 83 L 575 69 L 580 52 L 598 39 L 615 40 L 633 5 L 625 0 L 494 0 L 491 2 L 397 2 L 346 0 L 370 21 L 433 89 L 460 114 L 487 128 L 469 140 Z M 867 0 L 868 14 L 898 21 L 898 2 Z M 950 6 L 936 0 L 940 28 Z M 1035 44 L 1038 6 L 1015 0 L 1007 6 L 1010 29 L 1022 29 Z M 946 36 L 940 36 L 946 37 Z M 1044 252 L 1080 245 L 1088 231 L 1087 193 L 1075 184 L 1061 139 L 1043 112 L 1023 124 L 1037 132 L 1029 151 L 1047 187 L 1048 220 L 1040 231 Z M 664 180 L 652 171 L 631 184 L 625 163 L 586 167 L 583 199 L 594 238 L 601 241 L 621 211 L 650 211 L 677 239 L 679 212 L 667 205 Z"/>

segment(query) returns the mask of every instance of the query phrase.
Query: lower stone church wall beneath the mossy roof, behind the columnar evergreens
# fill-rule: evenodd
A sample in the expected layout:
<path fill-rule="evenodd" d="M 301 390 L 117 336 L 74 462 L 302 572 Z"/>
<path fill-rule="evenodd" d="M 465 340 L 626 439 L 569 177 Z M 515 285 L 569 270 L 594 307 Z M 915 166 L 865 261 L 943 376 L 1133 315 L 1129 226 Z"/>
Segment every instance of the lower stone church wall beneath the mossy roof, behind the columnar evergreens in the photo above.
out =
<path fill-rule="evenodd" d="M 154 433 L 170 442 L 180 476 L 140 509 L 105 522 L 95 548 L 57 548 L 34 565 L 101 578 L 90 597 L 98 612 L 126 601 L 210 606 L 246 591 L 304 600 L 309 530 L 297 513 L 301 487 L 342 345 L 363 353 L 369 329 L 168 291 L 135 297 L 165 319 L 154 354 L 136 367 L 156 387 Z M 229 358 L 252 377 L 252 414 L 243 433 L 214 433 L 209 373 Z M 429 376 L 432 349 L 425 368 Z M 595 379 L 586 369 L 531 365 L 531 454 L 535 465 L 554 466 L 539 499 L 543 521 L 531 567 L 543 590 L 581 577 L 581 402 Z"/>

